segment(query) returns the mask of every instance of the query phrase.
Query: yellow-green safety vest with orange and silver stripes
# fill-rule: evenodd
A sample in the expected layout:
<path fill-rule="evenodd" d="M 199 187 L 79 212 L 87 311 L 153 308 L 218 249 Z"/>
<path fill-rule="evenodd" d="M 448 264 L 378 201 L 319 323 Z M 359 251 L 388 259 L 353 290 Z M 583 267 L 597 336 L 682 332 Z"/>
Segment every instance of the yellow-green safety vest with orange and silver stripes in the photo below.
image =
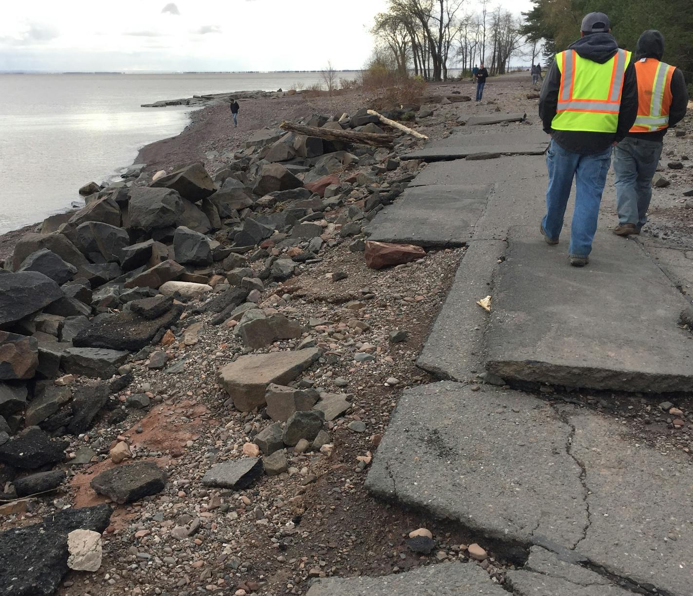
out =
<path fill-rule="evenodd" d="M 552 128 L 616 132 L 630 55 L 619 49 L 611 60 L 598 64 L 574 50 L 559 53 L 561 87 Z"/>

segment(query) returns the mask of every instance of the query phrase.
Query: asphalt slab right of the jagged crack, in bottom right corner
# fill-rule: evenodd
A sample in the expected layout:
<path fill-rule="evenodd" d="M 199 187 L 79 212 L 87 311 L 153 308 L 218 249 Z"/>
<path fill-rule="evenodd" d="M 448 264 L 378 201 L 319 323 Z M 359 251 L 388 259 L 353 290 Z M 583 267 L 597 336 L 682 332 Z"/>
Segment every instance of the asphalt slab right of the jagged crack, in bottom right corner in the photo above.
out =
<path fill-rule="evenodd" d="M 684 453 L 663 455 L 622 437 L 620 424 L 568 414 L 572 453 L 590 491 L 590 527 L 577 551 L 609 572 L 690 596 L 693 586 L 693 468 Z"/>

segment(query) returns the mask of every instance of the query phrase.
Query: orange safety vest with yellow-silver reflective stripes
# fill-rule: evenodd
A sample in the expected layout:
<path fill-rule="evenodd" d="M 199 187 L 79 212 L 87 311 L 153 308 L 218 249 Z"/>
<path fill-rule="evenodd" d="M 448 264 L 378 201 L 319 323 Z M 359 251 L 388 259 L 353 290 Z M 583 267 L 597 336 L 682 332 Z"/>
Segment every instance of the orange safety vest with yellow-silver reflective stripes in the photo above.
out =
<path fill-rule="evenodd" d="M 638 117 L 630 132 L 656 132 L 669 126 L 672 76 L 676 67 L 656 58 L 635 62 L 638 77 Z"/>

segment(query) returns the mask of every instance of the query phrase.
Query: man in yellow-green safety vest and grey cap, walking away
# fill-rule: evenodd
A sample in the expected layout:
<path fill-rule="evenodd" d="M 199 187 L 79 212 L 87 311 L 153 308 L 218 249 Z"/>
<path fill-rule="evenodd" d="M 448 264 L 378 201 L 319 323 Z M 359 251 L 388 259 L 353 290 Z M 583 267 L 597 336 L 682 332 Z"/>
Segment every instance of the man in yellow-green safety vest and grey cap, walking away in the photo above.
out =
<path fill-rule="evenodd" d="M 608 17 L 590 12 L 582 20 L 580 39 L 556 54 L 539 98 L 539 116 L 551 135 L 541 234 L 547 244 L 559 243 L 575 179 L 568 250 L 575 267 L 589 262 L 611 151 L 626 136 L 637 112 L 638 85 L 631 53 L 619 49 Z"/>

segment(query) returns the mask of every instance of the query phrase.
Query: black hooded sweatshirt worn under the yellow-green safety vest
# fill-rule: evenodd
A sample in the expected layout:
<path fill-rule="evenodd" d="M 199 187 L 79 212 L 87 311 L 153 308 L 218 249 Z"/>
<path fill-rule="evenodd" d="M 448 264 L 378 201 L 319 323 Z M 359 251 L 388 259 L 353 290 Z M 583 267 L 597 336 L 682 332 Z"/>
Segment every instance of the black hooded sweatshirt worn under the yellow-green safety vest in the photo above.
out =
<path fill-rule="evenodd" d="M 618 50 L 618 45 L 610 33 L 590 33 L 581 37 L 577 42 L 568 46 L 569 50 L 575 50 L 581 58 L 587 58 L 598 64 L 604 64 L 611 60 Z M 618 125 L 615 134 L 611 132 L 583 132 L 577 130 L 553 130 L 551 123 L 556 116 L 556 106 L 561 87 L 561 71 L 554 58 L 549 71 L 546 73 L 544 84 L 541 87 L 539 97 L 539 116 L 541 117 L 545 132 L 552 134 L 552 138 L 566 151 L 590 155 L 606 151 L 614 141 L 621 141 L 638 115 L 638 82 L 635 80 L 635 67 L 633 63 L 628 65 L 623 80 L 623 92 L 621 95 L 621 109 L 618 114 Z"/>

